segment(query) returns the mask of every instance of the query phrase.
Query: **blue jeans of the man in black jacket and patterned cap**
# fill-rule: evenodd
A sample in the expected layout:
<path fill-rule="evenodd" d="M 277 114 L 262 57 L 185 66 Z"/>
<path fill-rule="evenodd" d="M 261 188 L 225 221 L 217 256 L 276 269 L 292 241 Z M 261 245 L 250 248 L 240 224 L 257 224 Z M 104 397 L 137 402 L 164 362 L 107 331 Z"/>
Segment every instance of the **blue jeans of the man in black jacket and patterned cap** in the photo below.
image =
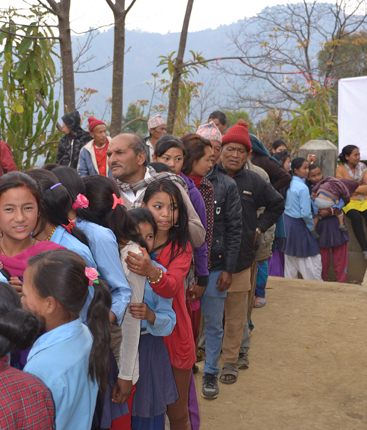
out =
<path fill-rule="evenodd" d="M 222 270 L 210 272 L 208 286 L 201 298 L 201 311 L 205 322 L 205 352 L 204 372 L 218 375 L 220 367 L 219 355 L 223 340 L 223 314 L 227 291 L 218 292 L 217 281 Z"/>

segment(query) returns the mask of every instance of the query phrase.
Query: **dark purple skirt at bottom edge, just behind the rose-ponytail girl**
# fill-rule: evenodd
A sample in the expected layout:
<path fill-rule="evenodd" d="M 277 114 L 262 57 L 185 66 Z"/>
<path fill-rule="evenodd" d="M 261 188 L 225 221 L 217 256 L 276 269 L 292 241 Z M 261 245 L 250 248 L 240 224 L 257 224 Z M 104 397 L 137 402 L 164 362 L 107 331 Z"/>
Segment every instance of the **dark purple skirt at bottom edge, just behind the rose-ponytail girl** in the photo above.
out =
<path fill-rule="evenodd" d="M 107 392 L 98 392 L 96 410 L 94 411 L 92 429 L 110 429 L 113 420 L 129 413 L 127 403 L 111 402 L 112 390 L 119 376 L 119 366 L 110 349 L 109 372 L 107 374 Z"/>

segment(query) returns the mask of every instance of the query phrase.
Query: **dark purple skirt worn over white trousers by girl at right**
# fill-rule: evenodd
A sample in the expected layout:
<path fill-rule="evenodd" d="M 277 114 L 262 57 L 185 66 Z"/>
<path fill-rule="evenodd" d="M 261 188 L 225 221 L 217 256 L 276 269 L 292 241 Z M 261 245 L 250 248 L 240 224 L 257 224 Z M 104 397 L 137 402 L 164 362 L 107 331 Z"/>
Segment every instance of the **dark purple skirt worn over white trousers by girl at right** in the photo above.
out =
<path fill-rule="evenodd" d="M 284 223 L 287 235 L 285 255 L 307 258 L 320 254 L 316 239 L 312 236 L 302 218 L 292 218 L 284 214 Z"/>

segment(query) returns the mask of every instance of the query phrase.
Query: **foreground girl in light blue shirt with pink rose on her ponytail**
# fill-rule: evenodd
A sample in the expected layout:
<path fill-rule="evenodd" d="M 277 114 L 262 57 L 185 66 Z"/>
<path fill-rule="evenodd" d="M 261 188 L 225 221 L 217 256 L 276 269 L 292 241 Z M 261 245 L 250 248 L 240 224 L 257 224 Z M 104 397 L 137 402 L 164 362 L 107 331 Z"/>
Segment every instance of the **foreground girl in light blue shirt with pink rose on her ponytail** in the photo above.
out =
<path fill-rule="evenodd" d="M 72 251 L 46 251 L 28 262 L 23 306 L 46 333 L 33 344 L 24 371 L 50 389 L 57 430 L 90 430 L 98 389 L 106 382 L 111 294 L 97 270 Z M 95 290 L 87 321 L 91 330 L 79 316 L 89 286 Z"/>

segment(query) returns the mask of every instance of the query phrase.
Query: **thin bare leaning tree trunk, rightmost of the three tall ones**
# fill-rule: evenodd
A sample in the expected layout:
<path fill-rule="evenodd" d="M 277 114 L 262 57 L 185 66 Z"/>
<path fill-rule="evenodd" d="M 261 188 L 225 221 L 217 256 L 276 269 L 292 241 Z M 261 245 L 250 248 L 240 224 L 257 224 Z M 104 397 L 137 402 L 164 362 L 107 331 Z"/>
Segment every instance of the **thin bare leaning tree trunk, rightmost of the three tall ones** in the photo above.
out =
<path fill-rule="evenodd" d="M 176 63 L 175 63 L 175 67 L 173 70 L 171 94 L 169 97 L 169 104 L 168 104 L 168 118 L 167 118 L 167 133 L 168 134 L 173 134 L 173 128 L 175 126 L 178 89 L 179 89 L 179 85 L 180 85 L 183 56 L 185 54 L 187 31 L 189 28 L 189 22 L 190 22 L 190 16 L 191 16 L 191 10 L 192 10 L 193 3 L 194 3 L 194 0 L 188 0 L 187 1 L 185 18 L 184 18 L 184 21 L 182 24 L 180 44 L 178 46 Z"/>

